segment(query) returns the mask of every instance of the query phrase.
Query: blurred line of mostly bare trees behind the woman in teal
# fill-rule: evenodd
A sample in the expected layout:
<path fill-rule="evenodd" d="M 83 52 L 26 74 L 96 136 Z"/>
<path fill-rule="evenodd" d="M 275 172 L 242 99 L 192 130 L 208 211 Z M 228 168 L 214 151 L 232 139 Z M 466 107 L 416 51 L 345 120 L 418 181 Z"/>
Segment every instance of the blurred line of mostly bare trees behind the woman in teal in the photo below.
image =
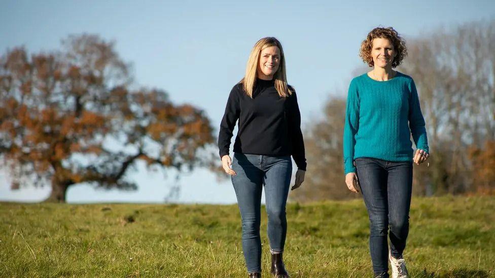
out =
<path fill-rule="evenodd" d="M 417 195 L 495 193 L 495 20 L 410 39 L 398 68 L 414 78 L 430 166 L 414 167 Z M 364 72 L 364 71 L 363 71 Z M 357 197 L 344 184 L 345 97 L 330 97 L 305 133 L 308 173 L 298 201 Z"/>

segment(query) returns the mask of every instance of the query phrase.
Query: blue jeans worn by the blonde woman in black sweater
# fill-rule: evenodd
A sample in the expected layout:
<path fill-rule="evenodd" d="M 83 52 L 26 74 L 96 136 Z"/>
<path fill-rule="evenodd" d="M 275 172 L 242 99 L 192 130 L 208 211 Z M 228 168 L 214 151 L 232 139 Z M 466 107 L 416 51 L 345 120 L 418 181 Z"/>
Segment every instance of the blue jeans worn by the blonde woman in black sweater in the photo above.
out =
<path fill-rule="evenodd" d="M 284 251 L 286 203 L 292 176 L 290 156 L 234 153 L 232 176 L 242 219 L 242 251 L 248 272 L 261 272 L 261 190 L 265 186 L 268 240 L 275 252 Z"/>

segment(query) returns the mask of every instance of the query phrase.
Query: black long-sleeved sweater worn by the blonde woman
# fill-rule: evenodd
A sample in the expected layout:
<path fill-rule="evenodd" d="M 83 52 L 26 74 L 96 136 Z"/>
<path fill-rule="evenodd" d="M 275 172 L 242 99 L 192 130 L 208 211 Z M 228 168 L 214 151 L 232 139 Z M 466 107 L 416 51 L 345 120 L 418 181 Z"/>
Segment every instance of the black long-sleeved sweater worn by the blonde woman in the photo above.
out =
<path fill-rule="evenodd" d="M 256 80 L 253 98 L 242 84 L 230 91 L 225 114 L 220 124 L 218 148 L 220 157 L 229 154 L 230 139 L 239 119 L 234 152 L 262 155 L 292 155 L 297 168 L 306 171 L 301 114 L 296 92 L 280 97 L 273 81 Z"/>

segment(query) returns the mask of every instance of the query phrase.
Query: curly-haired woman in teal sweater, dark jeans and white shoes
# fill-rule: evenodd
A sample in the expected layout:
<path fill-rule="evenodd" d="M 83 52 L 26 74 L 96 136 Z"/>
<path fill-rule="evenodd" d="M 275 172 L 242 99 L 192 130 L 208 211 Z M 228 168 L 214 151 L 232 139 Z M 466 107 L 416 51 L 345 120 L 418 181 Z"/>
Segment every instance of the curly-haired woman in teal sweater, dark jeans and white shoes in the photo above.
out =
<path fill-rule="evenodd" d="M 409 232 L 412 163 L 419 165 L 430 156 L 414 81 L 393 70 L 406 55 L 405 41 L 394 28 L 371 30 L 360 56 L 373 69 L 353 78 L 347 96 L 345 183 L 363 194 L 375 277 L 388 277 L 388 260 L 392 277 L 408 277 L 402 252 Z"/>

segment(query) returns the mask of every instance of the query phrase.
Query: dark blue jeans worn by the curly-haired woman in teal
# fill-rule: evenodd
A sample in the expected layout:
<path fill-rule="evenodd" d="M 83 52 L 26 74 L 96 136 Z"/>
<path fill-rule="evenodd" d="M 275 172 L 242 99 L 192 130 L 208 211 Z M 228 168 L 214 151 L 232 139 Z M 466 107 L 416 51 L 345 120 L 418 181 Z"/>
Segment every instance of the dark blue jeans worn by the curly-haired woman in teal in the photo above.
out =
<path fill-rule="evenodd" d="M 370 218 L 373 271 L 378 275 L 388 271 L 389 227 L 392 256 L 400 258 L 406 247 L 412 193 L 412 161 L 390 162 L 360 157 L 356 158 L 356 168 Z"/>

